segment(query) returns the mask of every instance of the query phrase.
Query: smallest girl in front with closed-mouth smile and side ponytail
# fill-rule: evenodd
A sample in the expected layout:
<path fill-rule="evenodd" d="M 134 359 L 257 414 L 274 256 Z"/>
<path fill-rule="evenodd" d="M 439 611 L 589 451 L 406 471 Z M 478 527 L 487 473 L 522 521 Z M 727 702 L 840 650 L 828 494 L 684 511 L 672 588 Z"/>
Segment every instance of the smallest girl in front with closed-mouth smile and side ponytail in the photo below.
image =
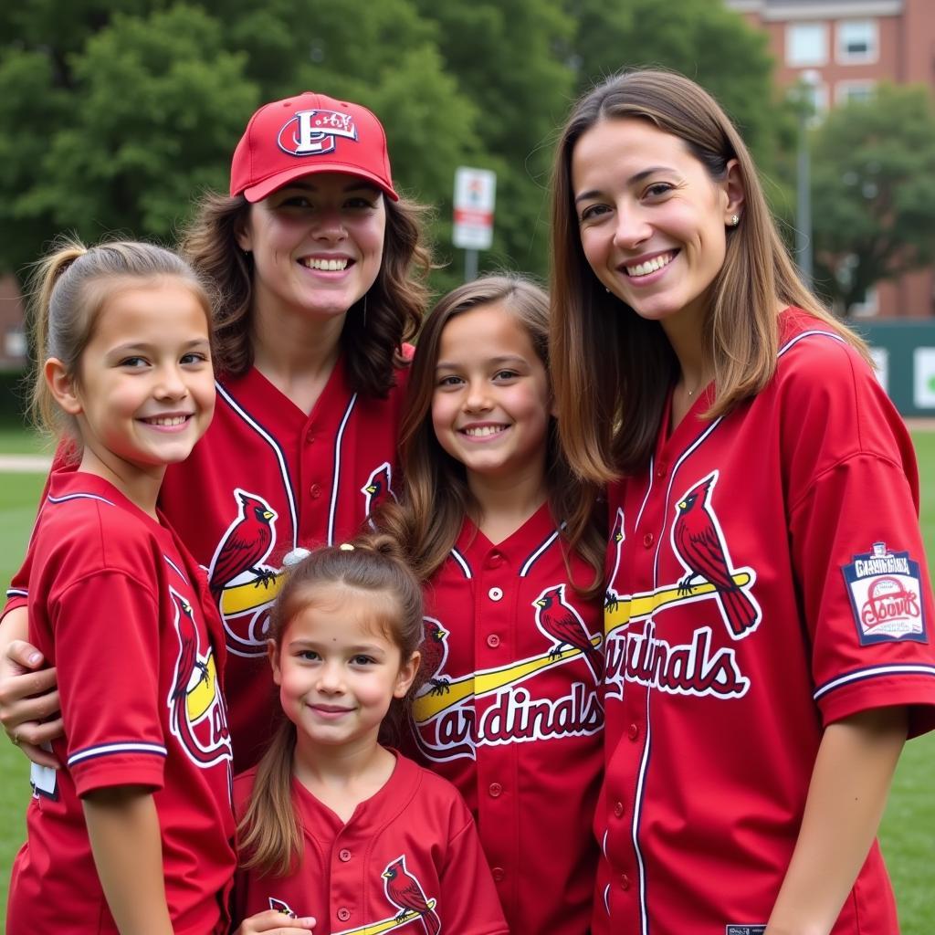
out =
<path fill-rule="evenodd" d="M 380 742 L 419 668 L 419 583 L 386 536 L 290 557 L 269 643 L 286 717 L 235 783 L 240 935 L 505 935 L 464 801 Z"/>

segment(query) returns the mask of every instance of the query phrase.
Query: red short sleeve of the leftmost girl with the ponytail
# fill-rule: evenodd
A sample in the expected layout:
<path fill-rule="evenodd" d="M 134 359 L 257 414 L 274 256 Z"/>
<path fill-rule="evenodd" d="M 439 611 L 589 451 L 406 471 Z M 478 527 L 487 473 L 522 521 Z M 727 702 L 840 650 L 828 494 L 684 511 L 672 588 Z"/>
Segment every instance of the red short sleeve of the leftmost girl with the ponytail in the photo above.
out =
<path fill-rule="evenodd" d="M 124 572 L 99 571 L 51 598 L 67 765 L 79 796 L 114 785 L 161 788 L 159 609 Z"/>

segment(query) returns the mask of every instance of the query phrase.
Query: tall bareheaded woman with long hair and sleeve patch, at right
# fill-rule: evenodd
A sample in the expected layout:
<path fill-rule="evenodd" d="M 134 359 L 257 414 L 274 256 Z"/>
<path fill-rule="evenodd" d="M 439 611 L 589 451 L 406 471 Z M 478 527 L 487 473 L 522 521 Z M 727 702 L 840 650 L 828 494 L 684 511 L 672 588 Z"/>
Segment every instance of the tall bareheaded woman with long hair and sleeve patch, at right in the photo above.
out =
<path fill-rule="evenodd" d="M 614 482 L 594 931 L 895 935 L 875 833 L 935 725 L 912 445 L 724 111 L 625 72 L 554 167 L 555 402 Z"/>

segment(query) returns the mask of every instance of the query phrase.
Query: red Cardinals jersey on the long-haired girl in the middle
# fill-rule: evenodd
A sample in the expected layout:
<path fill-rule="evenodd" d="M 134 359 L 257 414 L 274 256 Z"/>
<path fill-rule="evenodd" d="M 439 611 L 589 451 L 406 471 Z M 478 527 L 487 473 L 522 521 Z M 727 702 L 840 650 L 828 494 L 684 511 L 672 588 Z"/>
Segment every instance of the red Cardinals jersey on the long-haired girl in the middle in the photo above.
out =
<path fill-rule="evenodd" d="M 563 552 L 548 506 L 497 545 L 465 524 L 425 590 L 412 726 L 416 755 L 477 816 L 511 931 L 583 935 L 603 654 L 599 604 L 571 588 Z"/>

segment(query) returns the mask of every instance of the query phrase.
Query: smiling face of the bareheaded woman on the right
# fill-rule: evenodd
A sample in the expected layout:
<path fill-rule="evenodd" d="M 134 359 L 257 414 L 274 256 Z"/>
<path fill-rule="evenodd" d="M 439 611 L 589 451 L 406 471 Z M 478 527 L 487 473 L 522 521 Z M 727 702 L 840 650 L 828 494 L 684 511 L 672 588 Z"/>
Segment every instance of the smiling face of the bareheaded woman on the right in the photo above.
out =
<path fill-rule="evenodd" d="M 682 139 L 654 123 L 603 120 L 575 145 L 571 182 L 597 279 L 643 318 L 667 330 L 687 320 L 700 334 L 742 203 L 735 161 L 715 180 Z"/>

